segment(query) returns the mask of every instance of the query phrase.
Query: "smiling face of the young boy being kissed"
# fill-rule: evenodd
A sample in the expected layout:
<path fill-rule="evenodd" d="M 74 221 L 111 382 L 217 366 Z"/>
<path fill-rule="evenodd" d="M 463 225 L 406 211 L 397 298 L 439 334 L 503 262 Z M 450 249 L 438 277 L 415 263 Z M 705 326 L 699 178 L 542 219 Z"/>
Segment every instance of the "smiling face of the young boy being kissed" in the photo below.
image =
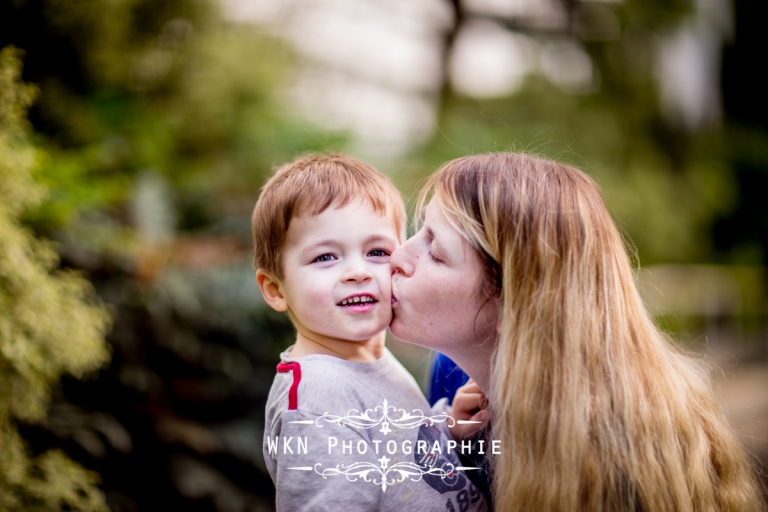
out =
<path fill-rule="evenodd" d="M 282 295 L 300 336 L 365 342 L 392 318 L 391 216 L 366 201 L 294 217 L 282 256 Z"/>

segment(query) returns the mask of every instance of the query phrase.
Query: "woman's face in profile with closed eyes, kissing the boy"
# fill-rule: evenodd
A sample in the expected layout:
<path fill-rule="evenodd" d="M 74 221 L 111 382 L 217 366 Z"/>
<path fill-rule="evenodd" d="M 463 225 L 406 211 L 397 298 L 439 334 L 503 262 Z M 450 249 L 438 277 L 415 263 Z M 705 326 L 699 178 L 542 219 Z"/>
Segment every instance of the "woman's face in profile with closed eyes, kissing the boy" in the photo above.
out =
<path fill-rule="evenodd" d="M 496 335 L 496 309 L 480 293 L 477 251 L 434 203 L 421 230 L 392 253 L 390 330 L 397 338 L 452 351 Z"/>

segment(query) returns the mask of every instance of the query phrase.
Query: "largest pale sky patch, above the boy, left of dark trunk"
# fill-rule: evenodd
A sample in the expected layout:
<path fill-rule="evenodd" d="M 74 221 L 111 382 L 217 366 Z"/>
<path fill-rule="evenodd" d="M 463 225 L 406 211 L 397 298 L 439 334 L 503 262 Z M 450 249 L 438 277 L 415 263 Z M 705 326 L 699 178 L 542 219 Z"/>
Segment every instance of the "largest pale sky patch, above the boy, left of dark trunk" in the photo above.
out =
<path fill-rule="evenodd" d="M 387 159 L 434 130 L 443 41 L 453 12 L 443 0 L 221 0 L 227 19 L 262 25 L 304 63 L 289 108 L 350 133 L 357 151 Z"/>

